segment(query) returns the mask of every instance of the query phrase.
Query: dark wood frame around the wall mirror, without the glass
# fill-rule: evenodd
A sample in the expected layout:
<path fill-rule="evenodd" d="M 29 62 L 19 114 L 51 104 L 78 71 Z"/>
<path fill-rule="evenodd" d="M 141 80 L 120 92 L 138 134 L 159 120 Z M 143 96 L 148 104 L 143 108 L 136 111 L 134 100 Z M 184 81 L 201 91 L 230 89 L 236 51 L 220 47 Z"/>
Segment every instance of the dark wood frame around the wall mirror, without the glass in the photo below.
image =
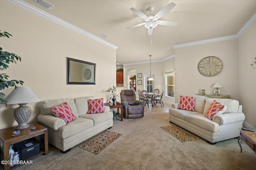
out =
<path fill-rule="evenodd" d="M 72 71 L 72 70 L 70 70 L 70 61 L 92 65 L 93 69 L 91 70 L 91 76 L 92 75 L 94 76 L 93 81 L 88 81 L 88 82 L 72 82 L 72 81 L 70 81 L 70 72 Z M 82 60 L 72 59 L 72 58 L 67 57 L 67 84 L 96 84 L 95 80 L 96 80 L 96 64 L 95 63 L 90 63 L 87 61 L 82 61 Z"/>

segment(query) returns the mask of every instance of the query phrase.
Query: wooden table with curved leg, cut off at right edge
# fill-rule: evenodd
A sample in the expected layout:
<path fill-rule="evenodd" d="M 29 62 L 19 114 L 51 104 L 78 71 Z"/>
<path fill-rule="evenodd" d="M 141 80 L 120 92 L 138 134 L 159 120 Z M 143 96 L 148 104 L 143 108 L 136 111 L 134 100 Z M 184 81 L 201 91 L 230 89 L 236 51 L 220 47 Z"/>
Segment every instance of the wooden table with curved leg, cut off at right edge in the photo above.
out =
<path fill-rule="evenodd" d="M 240 137 L 238 138 L 238 143 L 239 143 L 241 152 L 242 152 L 242 140 L 256 153 L 256 132 L 253 131 L 246 131 L 240 129 Z"/>

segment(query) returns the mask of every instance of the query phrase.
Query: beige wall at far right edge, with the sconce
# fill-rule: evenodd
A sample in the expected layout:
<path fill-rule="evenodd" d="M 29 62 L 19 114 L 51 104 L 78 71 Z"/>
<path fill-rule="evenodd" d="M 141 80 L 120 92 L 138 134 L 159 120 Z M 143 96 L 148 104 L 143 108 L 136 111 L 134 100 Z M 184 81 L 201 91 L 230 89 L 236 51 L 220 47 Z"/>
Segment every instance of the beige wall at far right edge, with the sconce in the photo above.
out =
<path fill-rule="evenodd" d="M 239 38 L 239 102 L 243 106 L 245 121 L 256 128 L 256 68 L 250 66 L 250 59 L 256 57 L 256 22 Z M 254 67 L 256 65 L 254 64 Z"/>

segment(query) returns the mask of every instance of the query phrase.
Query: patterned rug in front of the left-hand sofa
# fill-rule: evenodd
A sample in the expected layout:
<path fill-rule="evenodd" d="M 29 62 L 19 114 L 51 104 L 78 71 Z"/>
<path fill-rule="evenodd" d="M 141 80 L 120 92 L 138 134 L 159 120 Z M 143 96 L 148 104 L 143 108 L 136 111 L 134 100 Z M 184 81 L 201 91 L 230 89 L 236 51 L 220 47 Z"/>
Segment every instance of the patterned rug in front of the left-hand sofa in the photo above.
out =
<path fill-rule="evenodd" d="M 97 137 L 94 137 L 90 141 L 87 141 L 83 145 L 80 146 L 80 148 L 88 150 L 92 153 L 100 153 L 103 149 L 108 147 L 112 142 L 114 142 L 118 137 L 120 137 L 122 134 L 112 132 L 112 131 L 105 131 L 101 135 L 98 135 Z"/>

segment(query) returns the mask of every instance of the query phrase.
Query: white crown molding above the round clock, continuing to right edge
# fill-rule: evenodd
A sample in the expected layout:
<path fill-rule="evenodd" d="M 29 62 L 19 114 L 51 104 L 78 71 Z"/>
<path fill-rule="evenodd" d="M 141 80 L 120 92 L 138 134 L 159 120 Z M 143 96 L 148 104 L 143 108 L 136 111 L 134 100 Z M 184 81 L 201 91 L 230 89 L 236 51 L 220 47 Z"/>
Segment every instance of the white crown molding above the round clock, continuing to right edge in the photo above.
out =
<path fill-rule="evenodd" d="M 223 41 L 223 40 L 228 40 L 228 39 L 239 38 L 244 33 L 244 31 L 246 31 L 246 29 L 248 29 L 252 25 L 252 23 L 254 23 L 255 21 L 256 21 L 256 13 L 254 13 L 254 15 L 246 22 L 246 24 L 244 24 L 244 26 L 238 31 L 238 33 L 236 33 L 236 35 L 228 35 L 225 37 L 218 37 L 218 38 L 206 39 L 206 40 L 202 40 L 202 41 L 195 41 L 195 42 L 191 42 L 191 43 L 178 44 L 178 45 L 174 45 L 172 47 L 173 47 L 173 49 L 176 49 L 176 48 L 180 48 L 180 47 L 188 47 L 191 45 L 212 43 L 212 42 L 216 42 L 216 41 Z"/>

